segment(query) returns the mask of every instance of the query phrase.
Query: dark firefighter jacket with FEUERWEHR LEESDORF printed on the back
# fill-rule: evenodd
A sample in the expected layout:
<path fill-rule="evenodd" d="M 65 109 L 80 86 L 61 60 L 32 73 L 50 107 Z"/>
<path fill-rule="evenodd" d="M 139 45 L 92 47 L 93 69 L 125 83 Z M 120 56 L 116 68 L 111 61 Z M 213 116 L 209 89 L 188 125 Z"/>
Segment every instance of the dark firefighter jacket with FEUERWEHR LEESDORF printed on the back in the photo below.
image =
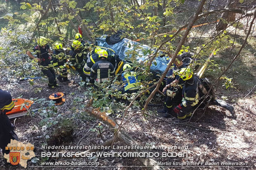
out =
<path fill-rule="evenodd" d="M 100 59 L 93 64 L 90 77 L 95 80 L 96 86 L 104 81 L 109 81 L 110 76 L 115 76 L 115 69 L 113 64 L 107 61 L 107 59 Z"/>

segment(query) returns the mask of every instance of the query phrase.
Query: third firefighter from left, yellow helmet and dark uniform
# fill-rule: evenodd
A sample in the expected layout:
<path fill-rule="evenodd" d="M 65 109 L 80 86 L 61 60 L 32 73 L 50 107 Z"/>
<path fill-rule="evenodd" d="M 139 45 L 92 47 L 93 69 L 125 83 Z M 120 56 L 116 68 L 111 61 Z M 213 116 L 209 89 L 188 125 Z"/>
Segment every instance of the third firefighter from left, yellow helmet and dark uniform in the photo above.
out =
<path fill-rule="evenodd" d="M 85 54 L 81 52 L 83 48 L 83 45 L 78 40 L 73 40 L 72 43 L 72 50 L 69 52 L 69 55 L 71 56 L 71 64 L 72 66 L 78 71 L 79 75 L 82 77 L 82 80 L 86 80 L 86 75 L 83 73 L 83 67 L 84 67 L 84 58 Z"/>

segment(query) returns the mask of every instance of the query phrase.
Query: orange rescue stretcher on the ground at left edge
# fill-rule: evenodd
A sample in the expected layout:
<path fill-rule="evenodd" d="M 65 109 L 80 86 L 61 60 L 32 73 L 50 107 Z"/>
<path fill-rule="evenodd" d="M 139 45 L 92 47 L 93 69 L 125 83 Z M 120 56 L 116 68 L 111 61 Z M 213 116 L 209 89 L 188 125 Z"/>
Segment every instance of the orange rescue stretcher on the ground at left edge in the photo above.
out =
<path fill-rule="evenodd" d="M 12 99 L 12 101 L 14 102 L 15 106 L 11 111 L 6 113 L 9 119 L 26 115 L 27 114 L 26 109 L 29 109 L 31 105 L 34 103 L 32 100 L 22 99 L 22 98 Z M 21 106 L 23 106 L 22 109 L 21 109 Z"/>

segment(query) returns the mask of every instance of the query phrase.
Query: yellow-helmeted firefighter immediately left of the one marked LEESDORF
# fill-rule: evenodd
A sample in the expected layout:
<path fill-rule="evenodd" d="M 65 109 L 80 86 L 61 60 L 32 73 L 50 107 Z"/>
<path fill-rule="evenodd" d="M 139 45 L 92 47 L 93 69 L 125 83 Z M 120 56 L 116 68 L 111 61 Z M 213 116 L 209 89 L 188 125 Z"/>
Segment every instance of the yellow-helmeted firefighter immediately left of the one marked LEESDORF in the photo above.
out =
<path fill-rule="evenodd" d="M 83 67 L 83 73 L 90 78 L 90 70 L 92 68 L 92 65 L 95 64 L 97 61 L 99 61 L 99 51 L 102 50 L 100 47 L 96 47 L 94 50 L 91 50 L 89 55 L 87 56 L 87 61 L 85 63 L 85 66 Z M 90 82 L 93 83 L 93 82 Z"/>

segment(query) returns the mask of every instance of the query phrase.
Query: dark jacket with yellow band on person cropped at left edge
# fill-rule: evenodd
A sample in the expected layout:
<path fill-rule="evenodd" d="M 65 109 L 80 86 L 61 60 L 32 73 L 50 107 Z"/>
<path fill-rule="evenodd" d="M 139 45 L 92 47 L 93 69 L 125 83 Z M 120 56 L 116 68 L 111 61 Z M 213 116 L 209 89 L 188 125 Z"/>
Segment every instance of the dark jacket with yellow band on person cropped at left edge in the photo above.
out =
<path fill-rule="evenodd" d="M 12 96 L 9 92 L 0 89 L 0 110 L 10 111 L 14 107 Z"/>

